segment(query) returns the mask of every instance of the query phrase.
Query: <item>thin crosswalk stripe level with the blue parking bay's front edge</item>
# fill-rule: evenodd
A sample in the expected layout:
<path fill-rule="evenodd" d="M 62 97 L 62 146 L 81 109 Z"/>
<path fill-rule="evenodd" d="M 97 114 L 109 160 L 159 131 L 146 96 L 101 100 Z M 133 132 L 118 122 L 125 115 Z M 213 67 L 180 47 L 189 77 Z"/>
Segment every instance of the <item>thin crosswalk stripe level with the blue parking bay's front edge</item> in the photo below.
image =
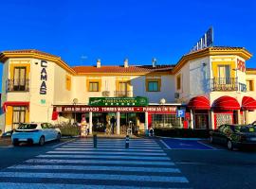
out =
<path fill-rule="evenodd" d="M 60 147 L 55 148 L 55 150 L 65 150 L 65 151 L 125 151 L 125 152 L 162 152 L 162 149 L 131 149 L 131 148 L 116 148 L 116 149 L 105 149 L 102 147 L 94 148 L 94 147 L 86 147 L 86 148 L 78 148 L 78 147 Z"/>

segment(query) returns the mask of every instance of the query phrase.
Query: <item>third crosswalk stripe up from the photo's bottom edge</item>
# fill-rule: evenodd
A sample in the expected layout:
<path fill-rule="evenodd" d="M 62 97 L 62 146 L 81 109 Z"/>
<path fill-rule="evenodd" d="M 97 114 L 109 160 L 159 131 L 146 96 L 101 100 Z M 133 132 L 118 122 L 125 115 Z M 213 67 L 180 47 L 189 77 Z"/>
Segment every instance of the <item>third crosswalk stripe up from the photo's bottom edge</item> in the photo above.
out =
<path fill-rule="evenodd" d="M 119 171 L 119 172 L 147 172 L 147 173 L 180 173 L 178 168 L 161 167 L 129 167 L 129 166 L 91 166 L 91 165 L 29 165 L 19 164 L 10 166 L 9 169 L 57 169 L 57 170 L 83 170 L 83 171 Z"/>

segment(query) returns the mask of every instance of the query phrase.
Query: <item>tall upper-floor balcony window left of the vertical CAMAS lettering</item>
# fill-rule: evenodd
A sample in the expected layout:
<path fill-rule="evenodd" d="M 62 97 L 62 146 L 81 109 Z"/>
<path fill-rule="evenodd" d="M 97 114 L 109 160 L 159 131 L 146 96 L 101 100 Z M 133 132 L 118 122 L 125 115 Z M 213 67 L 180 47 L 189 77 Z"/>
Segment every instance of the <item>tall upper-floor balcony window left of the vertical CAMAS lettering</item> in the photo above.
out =
<path fill-rule="evenodd" d="M 26 67 L 14 67 L 13 91 L 25 91 L 26 89 Z"/>

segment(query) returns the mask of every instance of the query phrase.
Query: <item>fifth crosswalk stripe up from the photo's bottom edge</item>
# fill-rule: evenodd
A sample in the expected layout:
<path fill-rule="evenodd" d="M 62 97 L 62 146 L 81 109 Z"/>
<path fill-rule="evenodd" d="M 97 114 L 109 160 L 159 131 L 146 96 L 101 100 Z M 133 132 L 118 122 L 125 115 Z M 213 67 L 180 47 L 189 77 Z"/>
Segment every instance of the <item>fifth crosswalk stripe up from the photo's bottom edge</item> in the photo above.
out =
<path fill-rule="evenodd" d="M 125 159 L 125 160 L 170 160 L 168 157 L 143 157 L 143 156 L 118 156 L 118 155 L 73 155 L 73 154 L 48 154 L 48 155 L 38 155 L 38 158 L 72 158 L 72 159 Z"/>

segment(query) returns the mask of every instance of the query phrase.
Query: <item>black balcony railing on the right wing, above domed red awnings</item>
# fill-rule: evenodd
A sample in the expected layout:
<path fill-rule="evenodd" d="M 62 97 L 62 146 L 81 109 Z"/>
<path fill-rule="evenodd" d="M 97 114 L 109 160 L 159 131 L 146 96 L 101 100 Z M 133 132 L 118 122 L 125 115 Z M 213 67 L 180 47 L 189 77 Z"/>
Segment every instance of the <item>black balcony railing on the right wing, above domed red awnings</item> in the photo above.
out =
<path fill-rule="evenodd" d="M 237 91 L 237 77 L 214 77 L 210 80 L 211 91 Z"/>

